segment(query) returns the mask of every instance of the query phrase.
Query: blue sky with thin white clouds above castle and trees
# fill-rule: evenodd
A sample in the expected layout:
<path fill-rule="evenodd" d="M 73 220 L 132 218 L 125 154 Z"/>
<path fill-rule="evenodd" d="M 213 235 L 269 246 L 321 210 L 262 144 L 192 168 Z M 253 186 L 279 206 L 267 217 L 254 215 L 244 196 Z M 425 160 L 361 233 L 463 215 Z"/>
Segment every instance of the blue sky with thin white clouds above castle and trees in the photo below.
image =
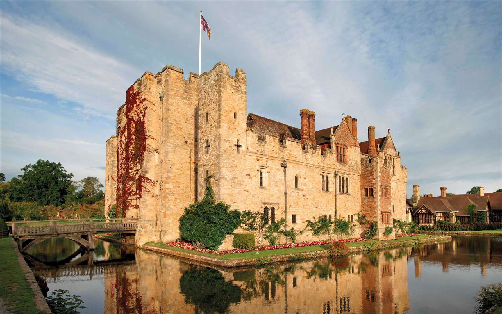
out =
<path fill-rule="evenodd" d="M 247 73 L 247 109 L 391 134 L 422 193 L 502 187 L 502 3 L 0 2 L 0 172 L 38 159 L 104 178 L 126 89 L 166 64 Z"/>

